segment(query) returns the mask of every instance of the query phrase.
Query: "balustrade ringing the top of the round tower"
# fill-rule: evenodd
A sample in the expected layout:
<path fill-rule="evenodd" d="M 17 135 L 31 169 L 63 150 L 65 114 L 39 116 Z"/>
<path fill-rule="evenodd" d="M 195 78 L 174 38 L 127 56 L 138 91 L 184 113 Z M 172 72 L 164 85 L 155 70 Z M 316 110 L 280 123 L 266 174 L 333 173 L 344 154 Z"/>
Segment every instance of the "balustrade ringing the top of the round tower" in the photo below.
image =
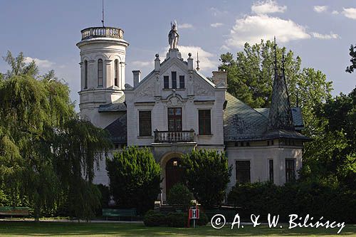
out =
<path fill-rule="evenodd" d="M 122 39 L 124 37 L 124 31 L 115 27 L 90 27 L 80 32 L 82 33 L 82 41 L 87 38 L 108 37 Z"/>

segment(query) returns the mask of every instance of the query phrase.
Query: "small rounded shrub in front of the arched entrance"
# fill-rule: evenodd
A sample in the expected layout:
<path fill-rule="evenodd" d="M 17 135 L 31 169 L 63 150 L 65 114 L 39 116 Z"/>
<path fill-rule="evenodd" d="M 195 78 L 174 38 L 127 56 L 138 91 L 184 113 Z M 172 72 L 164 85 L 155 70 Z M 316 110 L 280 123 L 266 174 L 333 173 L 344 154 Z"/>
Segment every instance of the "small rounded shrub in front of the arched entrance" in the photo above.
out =
<path fill-rule="evenodd" d="M 186 211 L 191 206 L 194 196 L 191 191 L 184 184 L 175 184 L 169 190 L 167 196 L 167 202 L 169 205 L 182 206 L 182 209 Z"/>

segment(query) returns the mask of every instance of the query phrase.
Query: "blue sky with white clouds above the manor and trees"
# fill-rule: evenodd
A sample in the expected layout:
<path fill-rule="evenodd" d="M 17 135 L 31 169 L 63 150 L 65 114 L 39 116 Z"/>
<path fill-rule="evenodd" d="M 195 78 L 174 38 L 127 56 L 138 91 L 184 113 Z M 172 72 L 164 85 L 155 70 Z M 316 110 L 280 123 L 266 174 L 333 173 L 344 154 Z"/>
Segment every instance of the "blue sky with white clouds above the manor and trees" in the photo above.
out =
<path fill-rule="evenodd" d="M 41 73 L 55 70 L 70 87 L 78 109 L 80 56 L 75 46 L 80 30 L 101 26 L 101 0 L 0 0 L 0 56 L 23 52 L 36 60 Z M 105 0 L 105 26 L 122 28 L 130 46 L 126 54 L 126 83 L 132 70 L 142 78 L 153 69 L 155 54 L 161 60 L 168 48 L 171 21 L 177 21 L 179 51 L 196 58 L 201 73 L 211 76 L 222 53 L 243 49 L 276 36 L 302 58 L 302 66 L 321 70 L 333 81 L 333 95 L 350 93 L 356 73 L 350 65 L 349 48 L 356 44 L 356 1 L 114 1 Z M 194 59 L 196 60 L 196 59 Z M 0 72 L 8 65 L 0 60 Z"/>

